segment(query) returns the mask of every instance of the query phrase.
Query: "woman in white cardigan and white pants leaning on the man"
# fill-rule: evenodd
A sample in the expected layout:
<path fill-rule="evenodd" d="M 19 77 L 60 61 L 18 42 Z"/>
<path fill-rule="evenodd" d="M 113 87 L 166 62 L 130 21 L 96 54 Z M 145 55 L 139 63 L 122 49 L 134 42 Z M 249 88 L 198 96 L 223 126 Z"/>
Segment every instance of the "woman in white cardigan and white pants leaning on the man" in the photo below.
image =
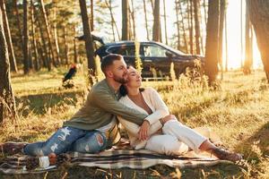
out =
<path fill-rule="evenodd" d="M 128 122 L 118 116 L 129 136 L 134 149 L 149 149 L 166 155 L 179 155 L 193 149 L 208 151 L 217 158 L 238 161 L 242 157 L 216 147 L 201 134 L 178 122 L 174 115 L 169 115 L 168 107 L 160 95 L 152 88 L 141 89 L 142 78 L 134 67 L 129 67 L 128 82 L 122 87 L 120 102 L 127 107 L 148 114 L 148 120 L 141 126 Z"/>

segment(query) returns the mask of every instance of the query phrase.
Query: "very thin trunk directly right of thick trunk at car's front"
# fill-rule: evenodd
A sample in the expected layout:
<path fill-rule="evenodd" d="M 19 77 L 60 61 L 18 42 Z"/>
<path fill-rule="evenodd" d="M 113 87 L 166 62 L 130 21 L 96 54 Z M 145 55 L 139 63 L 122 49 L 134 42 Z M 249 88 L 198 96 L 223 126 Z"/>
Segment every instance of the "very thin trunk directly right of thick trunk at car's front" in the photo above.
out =
<path fill-rule="evenodd" d="M 226 13 L 226 0 L 221 0 L 221 9 L 220 9 L 220 30 L 219 30 L 219 64 L 221 66 L 221 80 L 223 79 L 223 61 L 222 61 L 222 42 L 223 42 L 223 26 L 224 26 L 224 16 Z"/>

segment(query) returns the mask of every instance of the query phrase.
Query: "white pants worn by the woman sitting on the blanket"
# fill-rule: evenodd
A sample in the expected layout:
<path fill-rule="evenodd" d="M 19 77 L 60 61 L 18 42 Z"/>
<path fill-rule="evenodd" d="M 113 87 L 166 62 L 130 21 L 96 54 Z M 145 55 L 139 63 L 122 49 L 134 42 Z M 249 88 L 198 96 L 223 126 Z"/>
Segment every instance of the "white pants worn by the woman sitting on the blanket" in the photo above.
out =
<path fill-rule="evenodd" d="M 163 134 L 152 135 L 145 149 L 166 155 L 179 155 L 187 152 L 188 148 L 197 152 L 201 144 L 207 140 L 178 120 L 169 120 L 162 127 L 162 132 Z"/>

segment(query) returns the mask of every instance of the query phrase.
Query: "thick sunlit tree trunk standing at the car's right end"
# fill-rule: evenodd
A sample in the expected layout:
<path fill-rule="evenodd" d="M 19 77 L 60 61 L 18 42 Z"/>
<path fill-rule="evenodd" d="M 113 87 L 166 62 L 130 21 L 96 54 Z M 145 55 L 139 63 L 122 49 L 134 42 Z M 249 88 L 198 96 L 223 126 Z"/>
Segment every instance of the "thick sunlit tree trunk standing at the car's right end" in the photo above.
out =
<path fill-rule="evenodd" d="M 213 85 L 218 73 L 220 0 L 209 0 L 206 24 L 205 74 Z"/>

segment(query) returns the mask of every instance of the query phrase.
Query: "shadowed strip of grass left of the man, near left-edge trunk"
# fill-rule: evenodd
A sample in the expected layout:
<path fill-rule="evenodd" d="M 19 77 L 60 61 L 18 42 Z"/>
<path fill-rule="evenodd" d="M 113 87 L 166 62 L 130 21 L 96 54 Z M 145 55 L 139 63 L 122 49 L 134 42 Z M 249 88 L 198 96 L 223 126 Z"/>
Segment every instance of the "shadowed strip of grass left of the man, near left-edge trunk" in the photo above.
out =
<path fill-rule="evenodd" d="M 82 94 L 82 91 L 36 94 L 16 98 L 16 102 L 22 103 L 22 115 L 30 112 L 35 115 L 44 115 L 49 107 L 75 105 Z"/>

